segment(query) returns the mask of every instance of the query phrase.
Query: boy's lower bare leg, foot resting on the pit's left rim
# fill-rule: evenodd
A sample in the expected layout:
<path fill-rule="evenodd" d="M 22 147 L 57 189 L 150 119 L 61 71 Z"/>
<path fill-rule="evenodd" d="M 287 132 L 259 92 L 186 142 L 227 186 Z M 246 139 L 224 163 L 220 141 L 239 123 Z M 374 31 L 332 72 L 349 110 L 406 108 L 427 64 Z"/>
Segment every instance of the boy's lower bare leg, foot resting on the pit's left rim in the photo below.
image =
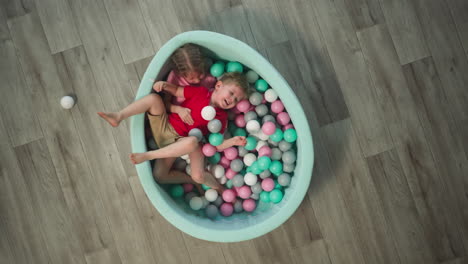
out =
<path fill-rule="evenodd" d="M 130 154 L 130 160 L 133 164 L 139 164 L 147 160 L 180 157 L 192 152 L 197 147 L 198 140 L 196 137 L 184 137 L 164 148 L 144 153 L 132 153 Z"/>

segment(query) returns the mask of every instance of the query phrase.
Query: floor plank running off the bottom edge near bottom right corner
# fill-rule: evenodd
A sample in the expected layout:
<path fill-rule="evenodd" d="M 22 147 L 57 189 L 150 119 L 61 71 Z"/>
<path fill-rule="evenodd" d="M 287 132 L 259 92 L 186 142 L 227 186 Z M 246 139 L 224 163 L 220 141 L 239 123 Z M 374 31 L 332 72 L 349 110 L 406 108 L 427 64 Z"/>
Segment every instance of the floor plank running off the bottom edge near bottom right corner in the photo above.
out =
<path fill-rule="evenodd" d="M 396 150 L 369 157 L 367 164 L 382 199 L 401 263 L 438 263 L 425 239 Z"/>

